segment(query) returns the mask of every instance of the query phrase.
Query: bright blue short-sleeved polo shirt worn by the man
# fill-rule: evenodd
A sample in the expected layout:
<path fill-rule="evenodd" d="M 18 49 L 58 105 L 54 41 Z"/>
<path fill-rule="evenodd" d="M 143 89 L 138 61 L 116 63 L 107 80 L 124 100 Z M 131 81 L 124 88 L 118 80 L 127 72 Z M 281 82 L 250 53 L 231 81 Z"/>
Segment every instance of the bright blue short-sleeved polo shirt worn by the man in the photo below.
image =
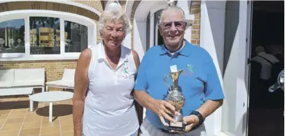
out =
<path fill-rule="evenodd" d="M 150 48 L 139 66 L 135 90 L 146 91 L 154 99 L 165 99 L 167 90 L 164 75 L 169 75 L 170 66 L 176 65 L 183 70 L 178 80 L 185 96 L 182 116 L 197 110 L 205 101 L 223 99 L 223 90 L 214 63 L 209 53 L 198 46 L 193 46 L 187 40 L 185 46 L 173 55 L 164 45 Z M 166 79 L 172 86 L 171 78 Z M 146 117 L 153 126 L 165 128 L 155 113 L 146 110 Z"/>

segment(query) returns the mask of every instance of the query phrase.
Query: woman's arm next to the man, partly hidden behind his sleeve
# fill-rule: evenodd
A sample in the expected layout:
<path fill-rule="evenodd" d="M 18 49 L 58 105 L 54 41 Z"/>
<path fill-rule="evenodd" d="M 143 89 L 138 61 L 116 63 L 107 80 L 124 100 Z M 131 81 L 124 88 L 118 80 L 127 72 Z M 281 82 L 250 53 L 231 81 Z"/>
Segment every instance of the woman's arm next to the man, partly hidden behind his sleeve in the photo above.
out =
<path fill-rule="evenodd" d="M 132 56 L 134 57 L 135 65 L 136 65 L 137 70 L 138 70 L 139 64 L 140 64 L 139 55 L 137 54 L 137 52 L 135 50 L 132 50 Z M 140 126 L 141 123 L 143 122 L 144 108 L 137 101 L 135 101 L 135 107 L 137 110 L 137 114 L 139 116 L 139 126 Z"/>

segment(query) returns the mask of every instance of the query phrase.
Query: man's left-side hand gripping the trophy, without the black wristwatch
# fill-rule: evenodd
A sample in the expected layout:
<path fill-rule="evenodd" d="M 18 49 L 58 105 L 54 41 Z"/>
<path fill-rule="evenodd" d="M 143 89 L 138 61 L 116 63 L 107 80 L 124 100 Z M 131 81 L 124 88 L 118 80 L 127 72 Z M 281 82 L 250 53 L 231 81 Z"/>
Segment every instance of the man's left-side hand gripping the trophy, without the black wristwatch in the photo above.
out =
<path fill-rule="evenodd" d="M 153 103 L 152 108 L 150 108 L 150 110 L 152 110 L 153 113 L 155 113 L 159 117 L 160 121 L 162 122 L 162 124 L 164 124 L 164 126 L 169 126 L 169 124 L 167 124 L 164 121 L 164 119 L 169 120 L 169 122 L 176 123 L 175 119 L 170 117 L 168 114 L 171 114 L 173 116 L 180 115 L 180 113 L 175 111 L 174 106 L 172 106 L 171 104 L 169 104 L 169 102 L 164 101 L 164 100 L 156 99 Z"/>

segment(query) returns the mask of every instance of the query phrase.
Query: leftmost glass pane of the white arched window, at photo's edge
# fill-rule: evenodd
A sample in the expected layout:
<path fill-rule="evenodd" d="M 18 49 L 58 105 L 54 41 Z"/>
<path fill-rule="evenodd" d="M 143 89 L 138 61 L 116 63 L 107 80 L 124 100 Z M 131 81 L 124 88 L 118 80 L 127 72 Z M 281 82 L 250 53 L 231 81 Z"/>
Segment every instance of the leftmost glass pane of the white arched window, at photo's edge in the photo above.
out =
<path fill-rule="evenodd" d="M 24 23 L 24 19 L 0 22 L 0 53 L 25 52 Z"/>

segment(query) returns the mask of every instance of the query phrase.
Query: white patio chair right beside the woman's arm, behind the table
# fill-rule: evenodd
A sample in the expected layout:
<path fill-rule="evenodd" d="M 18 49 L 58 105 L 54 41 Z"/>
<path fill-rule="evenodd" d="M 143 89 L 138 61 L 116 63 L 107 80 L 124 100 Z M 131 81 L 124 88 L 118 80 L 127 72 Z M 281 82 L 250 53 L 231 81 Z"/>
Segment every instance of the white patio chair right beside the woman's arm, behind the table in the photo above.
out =
<path fill-rule="evenodd" d="M 75 69 L 64 68 L 62 79 L 46 82 L 46 91 L 49 87 L 74 89 Z"/>

